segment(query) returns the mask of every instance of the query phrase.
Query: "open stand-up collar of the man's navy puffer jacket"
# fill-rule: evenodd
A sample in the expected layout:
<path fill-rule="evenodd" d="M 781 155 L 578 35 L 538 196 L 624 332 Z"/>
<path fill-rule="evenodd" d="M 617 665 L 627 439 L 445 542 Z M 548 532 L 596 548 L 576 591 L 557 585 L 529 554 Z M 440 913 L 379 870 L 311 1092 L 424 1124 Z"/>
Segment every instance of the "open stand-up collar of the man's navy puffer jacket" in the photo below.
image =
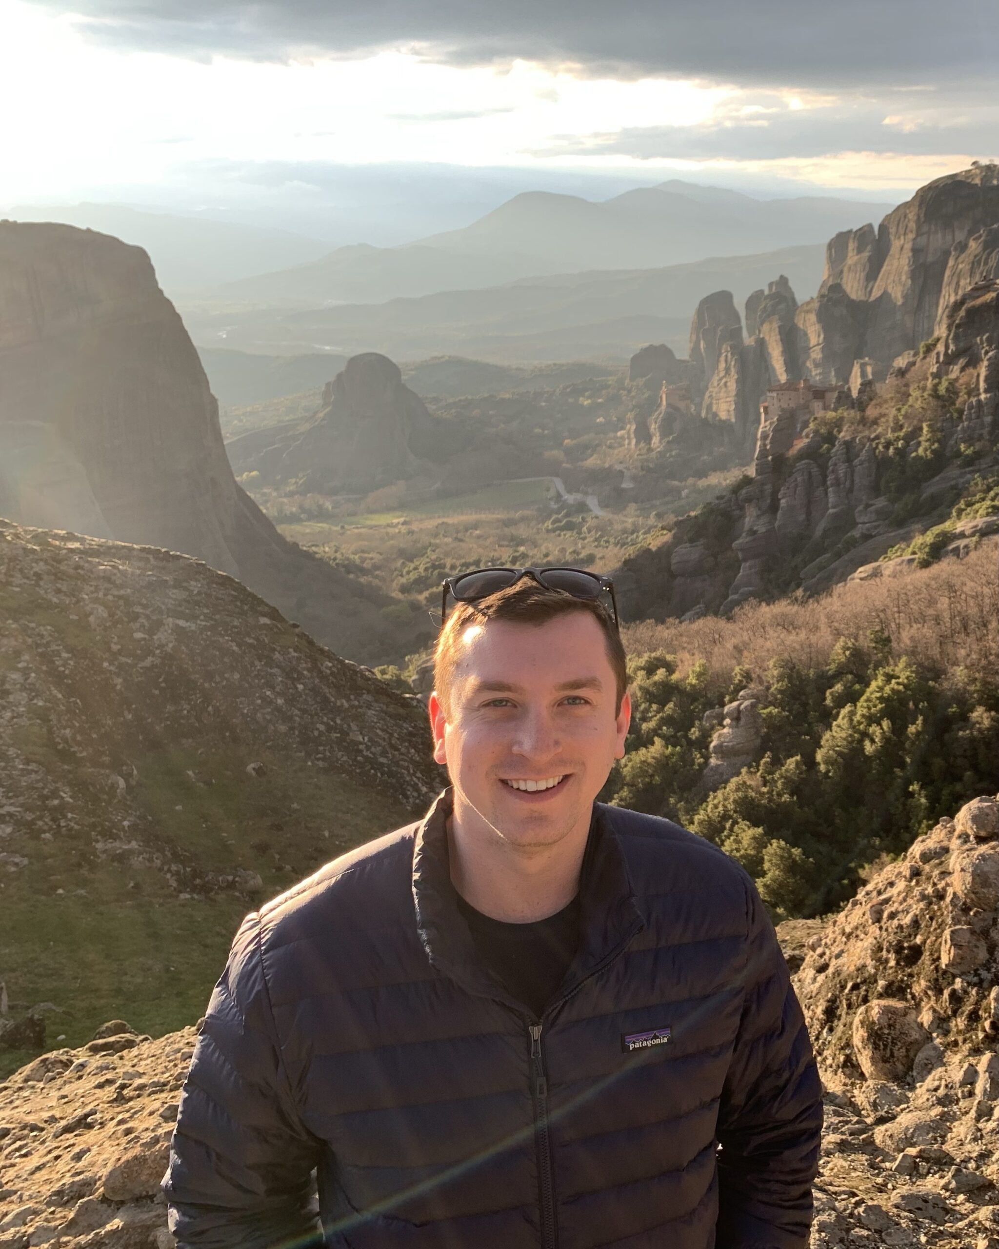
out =
<path fill-rule="evenodd" d="M 451 883 L 447 819 L 452 791 L 445 789 L 417 828 L 413 847 L 416 926 L 427 958 L 438 972 L 478 997 L 488 997 L 527 1013 L 480 958 L 468 924 L 458 911 Z M 644 928 L 628 876 L 624 852 L 613 828 L 611 808 L 593 804 L 589 841 L 579 881 L 579 948 L 556 995 L 562 1000 L 621 954 Z"/>

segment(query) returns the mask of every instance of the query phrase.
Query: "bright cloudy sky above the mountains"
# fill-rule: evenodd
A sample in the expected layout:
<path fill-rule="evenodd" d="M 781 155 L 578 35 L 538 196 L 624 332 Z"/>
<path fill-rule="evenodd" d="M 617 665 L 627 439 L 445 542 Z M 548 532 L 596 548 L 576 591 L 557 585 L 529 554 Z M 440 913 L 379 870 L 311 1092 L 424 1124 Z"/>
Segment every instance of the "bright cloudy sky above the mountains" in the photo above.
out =
<path fill-rule="evenodd" d="M 0 0 L 0 205 L 407 164 L 899 200 L 999 157 L 995 0 Z"/>

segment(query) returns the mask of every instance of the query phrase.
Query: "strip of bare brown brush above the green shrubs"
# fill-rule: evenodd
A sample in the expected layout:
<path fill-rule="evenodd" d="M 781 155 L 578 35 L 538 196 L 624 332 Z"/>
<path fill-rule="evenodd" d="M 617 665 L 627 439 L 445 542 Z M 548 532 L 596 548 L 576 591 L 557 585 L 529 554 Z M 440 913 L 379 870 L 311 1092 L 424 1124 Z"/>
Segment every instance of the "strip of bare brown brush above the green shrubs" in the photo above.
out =
<path fill-rule="evenodd" d="M 965 560 L 944 560 L 903 577 L 854 581 L 814 598 L 746 603 L 732 617 L 687 624 L 639 621 L 626 626 L 632 654 L 668 651 L 683 676 L 704 661 L 726 686 L 737 667 L 755 674 L 787 658 L 823 667 L 837 642 L 882 634 L 892 653 L 953 669 L 999 672 L 999 543 L 983 542 Z"/>

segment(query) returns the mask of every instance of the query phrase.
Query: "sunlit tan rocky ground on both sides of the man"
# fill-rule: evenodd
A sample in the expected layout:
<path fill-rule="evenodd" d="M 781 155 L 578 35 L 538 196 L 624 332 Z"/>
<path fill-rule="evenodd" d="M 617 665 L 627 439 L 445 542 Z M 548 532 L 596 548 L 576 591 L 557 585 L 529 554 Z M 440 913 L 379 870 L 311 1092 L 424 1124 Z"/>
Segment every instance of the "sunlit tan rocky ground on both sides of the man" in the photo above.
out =
<path fill-rule="evenodd" d="M 780 938 L 825 1082 L 812 1249 L 999 1249 L 999 797 Z M 0 1249 L 169 1249 L 159 1182 L 196 1029 L 121 1022 L 2 1085 Z"/>

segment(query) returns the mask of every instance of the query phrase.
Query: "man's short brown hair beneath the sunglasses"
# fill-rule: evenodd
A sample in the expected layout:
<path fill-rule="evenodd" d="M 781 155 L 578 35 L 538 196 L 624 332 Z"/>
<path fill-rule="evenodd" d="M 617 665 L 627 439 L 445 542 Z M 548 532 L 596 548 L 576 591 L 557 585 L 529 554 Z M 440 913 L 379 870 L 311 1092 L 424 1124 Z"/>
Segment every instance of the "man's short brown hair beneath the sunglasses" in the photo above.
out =
<path fill-rule="evenodd" d="M 548 590 L 533 578 L 522 577 L 506 590 L 497 590 L 487 598 L 473 603 L 455 603 L 441 627 L 437 646 L 433 652 L 433 687 L 442 703 L 447 703 L 447 691 L 451 687 L 457 664 L 457 642 L 470 626 L 488 620 L 516 621 L 522 624 L 544 624 L 547 621 L 571 612 L 586 612 L 592 616 L 603 632 L 607 658 L 614 673 L 617 702 L 614 711 L 621 711 L 624 692 L 628 688 L 628 664 L 624 643 L 607 610 L 596 598 L 576 598 L 564 590 Z"/>

